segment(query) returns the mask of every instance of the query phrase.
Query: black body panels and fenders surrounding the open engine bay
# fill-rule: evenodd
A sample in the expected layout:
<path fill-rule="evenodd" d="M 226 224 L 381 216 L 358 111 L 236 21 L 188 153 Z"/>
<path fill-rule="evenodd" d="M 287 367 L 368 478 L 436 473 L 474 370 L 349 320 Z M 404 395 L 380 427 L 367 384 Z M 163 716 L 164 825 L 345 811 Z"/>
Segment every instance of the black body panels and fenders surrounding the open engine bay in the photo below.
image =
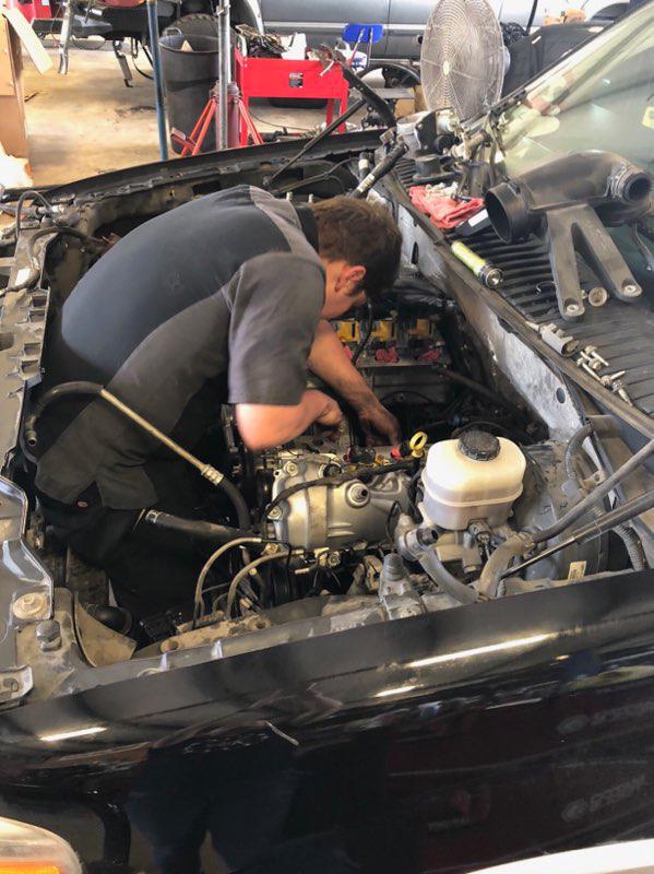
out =
<path fill-rule="evenodd" d="M 651 19 L 651 7 L 635 13 L 602 50 L 616 55 L 618 28 L 645 32 Z M 331 138 L 282 176 L 283 187 L 318 197 L 354 187 L 344 162 L 356 165 L 378 144 L 374 131 Z M 262 185 L 296 150 L 281 143 L 135 167 L 47 197 L 97 238 L 216 188 Z M 486 287 L 454 258 L 451 235 L 413 205 L 415 173 L 406 158 L 376 190 L 400 221 L 420 293 L 442 302 L 448 367 L 483 365 L 496 406 L 500 392 L 528 410 L 523 448 L 544 474 L 516 503 L 515 524 L 549 524 L 574 504 L 561 459 L 585 417 L 619 423 L 594 445 L 605 469 L 654 435 L 651 277 L 641 263 L 637 303 L 611 300 L 574 327 L 586 345 L 610 346 L 630 405 L 534 329 L 539 320 L 570 328 L 557 316 L 544 244 L 508 245 L 492 232 L 471 238 L 504 271 L 501 290 Z M 432 607 L 420 590 L 379 606 L 367 592 L 347 610 L 336 599 L 329 612 L 320 605 L 331 595 L 300 599 L 280 602 L 276 610 L 299 612 L 265 627 L 245 616 L 236 631 L 209 625 L 201 639 L 185 637 L 197 634 L 187 627 L 169 638 L 175 646 L 159 639 L 133 657 L 120 635 L 98 638 L 73 604 L 79 576 L 55 584 L 21 486 L 20 427 L 48 307 L 94 257 L 46 227 L 27 218 L 17 245 L 0 250 L 10 286 L 0 323 L 0 814 L 69 839 L 90 872 L 121 873 L 198 871 L 201 851 L 206 871 L 222 870 L 219 858 L 228 870 L 266 874 L 454 874 L 653 836 L 651 512 L 633 528 L 640 570 L 611 534 L 543 559 L 511 597 L 487 602 Z M 396 392 L 432 391 L 417 370 L 408 385 L 399 373 L 390 373 Z M 620 500 L 651 489 L 641 468 Z M 309 601 L 321 615 L 302 613 Z"/>

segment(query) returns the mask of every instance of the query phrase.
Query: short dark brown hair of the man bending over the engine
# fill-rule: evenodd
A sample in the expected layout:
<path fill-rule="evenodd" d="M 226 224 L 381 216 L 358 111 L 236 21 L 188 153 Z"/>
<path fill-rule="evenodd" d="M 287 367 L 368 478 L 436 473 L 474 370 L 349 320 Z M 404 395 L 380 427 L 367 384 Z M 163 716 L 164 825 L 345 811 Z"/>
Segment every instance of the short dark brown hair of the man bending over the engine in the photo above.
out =
<path fill-rule="evenodd" d="M 365 267 L 361 286 L 372 299 L 393 285 L 400 269 L 402 235 L 385 206 L 337 197 L 313 203 L 311 209 L 322 258 Z"/>

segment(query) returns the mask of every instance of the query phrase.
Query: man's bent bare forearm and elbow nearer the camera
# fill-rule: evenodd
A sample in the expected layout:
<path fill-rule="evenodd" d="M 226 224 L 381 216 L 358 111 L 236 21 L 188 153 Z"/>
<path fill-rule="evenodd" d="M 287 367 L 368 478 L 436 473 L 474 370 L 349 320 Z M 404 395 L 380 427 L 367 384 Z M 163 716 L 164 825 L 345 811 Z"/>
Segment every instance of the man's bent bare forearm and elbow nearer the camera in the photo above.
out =
<path fill-rule="evenodd" d="M 254 451 L 288 442 L 313 423 L 337 427 L 342 420 L 343 413 L 336 401 L 313 389 L 306 391 L 296 406 L 236 404 L 239 434 L 246 446 Z"/>

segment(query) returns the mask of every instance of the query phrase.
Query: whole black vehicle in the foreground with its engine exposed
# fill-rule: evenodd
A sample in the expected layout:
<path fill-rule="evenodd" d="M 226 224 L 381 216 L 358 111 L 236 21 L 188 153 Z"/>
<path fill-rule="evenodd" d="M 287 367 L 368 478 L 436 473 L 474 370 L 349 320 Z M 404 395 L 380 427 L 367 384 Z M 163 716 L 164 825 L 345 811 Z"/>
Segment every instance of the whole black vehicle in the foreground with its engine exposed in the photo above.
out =
<path fill-rule="evenodd" d="M 654 837 L 653 59 L 649 3 L 483 119 L 448 117 L 447 141 L 381 178 L 405 269 L 370 329 L 337 329 L 405 435 L 428 434 L 427 459 L 391 469 L 355 439 L 345 460 L 312 435 L 252 454 L 227 410 L 216 463 L 252 524 L 297 553 L 234 612 L 201 586 L 140 649 L 29 491 L 48 314 L 153 215 L 236 184 L 296 202 L 352 191 L 361 153 L 393 144 L 368 130 L 293 166 L 283 142 L 5 196 L 24 212 L 0 243 L 0 815 L 58 832 L 90 874 L 198 872 L 201 852 L 205 870 L 217 855 L 249 874 L 463 874 Z M 486 196 L 502 233 L 466 243 L 503 284 L 414 205 L 437 164 Z M 551 197 L 533 185 L 526 209 L 502 179 L 534 167 Z M 552 256 L 557 205 L 578 208 L 581 239 L 595 215 L 581 267 Z M 586 311 L 561 316 L 578 269 Z M 640 294 L 609 287 L 626 270 Z M 492 506 L 448 503 L 464 454 L 494 464 Z"/>

